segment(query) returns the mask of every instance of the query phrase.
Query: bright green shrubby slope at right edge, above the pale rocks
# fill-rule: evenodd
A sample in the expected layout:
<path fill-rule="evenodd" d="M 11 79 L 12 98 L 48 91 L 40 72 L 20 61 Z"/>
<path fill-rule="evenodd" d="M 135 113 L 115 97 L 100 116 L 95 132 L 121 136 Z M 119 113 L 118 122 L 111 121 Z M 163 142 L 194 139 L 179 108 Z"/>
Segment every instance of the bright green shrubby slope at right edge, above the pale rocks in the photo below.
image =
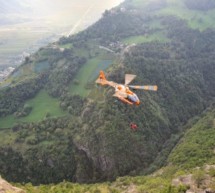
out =
<path fill-rule="evenodd" d="M 215 114 L 214 109 L 198 121 L 174 148 L 169 162 L 189 169 L 196 166 L 215 164 Z"/>

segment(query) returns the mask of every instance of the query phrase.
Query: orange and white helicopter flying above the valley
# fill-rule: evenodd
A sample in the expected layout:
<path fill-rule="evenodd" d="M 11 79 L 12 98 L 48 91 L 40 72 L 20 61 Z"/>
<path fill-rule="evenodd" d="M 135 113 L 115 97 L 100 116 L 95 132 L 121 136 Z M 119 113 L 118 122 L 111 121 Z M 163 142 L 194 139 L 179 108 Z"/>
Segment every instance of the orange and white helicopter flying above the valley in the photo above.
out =
<path fill-rule="evenodd" d="M 136 77 L 136 75 L 133 74 L 126 74 L 125 75 L 125 84 L 117 84 L 113 81 L 108 81 L 105 78 L 105 74 L 103 71 L 100 71 L 99 77 L 96 80 L 96 83 L 101 85 L 109 85 L 115 88 L 114 97 L 117 97 L 121 101 L 128 103 L 130 105 L 139 105 L 140 100 L 137 97 L 137 95 L 132 92 L 129 88 L 132 89 L 142 89 L 142 90 L 151 90 L 151 91 L 157 91 L 158 87 L 157 85 L 146 85 L 146 86 L 134 86 L 129 85 L 129 83 Z"/>

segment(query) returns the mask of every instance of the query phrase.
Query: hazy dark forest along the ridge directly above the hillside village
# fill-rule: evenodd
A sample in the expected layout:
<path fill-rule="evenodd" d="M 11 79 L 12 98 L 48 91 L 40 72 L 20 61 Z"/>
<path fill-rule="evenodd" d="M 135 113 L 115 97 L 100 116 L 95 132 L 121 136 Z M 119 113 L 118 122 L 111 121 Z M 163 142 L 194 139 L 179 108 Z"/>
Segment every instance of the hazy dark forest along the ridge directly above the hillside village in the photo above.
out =
<path fill-rule="evenodd" d="M 129 36 L 150 33 L 151 30 L 145 24 L 149 18 L 148 15 L 140 14 L 138 11 L 133 13 L 114 9 L 105 13 L 102 19 L 85 31 L 69 37 L 67 41 L 79 47 L 87 40 L 93 39 L 97 40 L 101 45 L 108 46 L 110 43 L 115 43 Z M 60 42 L 62 41 L 63 39 Z"/>

